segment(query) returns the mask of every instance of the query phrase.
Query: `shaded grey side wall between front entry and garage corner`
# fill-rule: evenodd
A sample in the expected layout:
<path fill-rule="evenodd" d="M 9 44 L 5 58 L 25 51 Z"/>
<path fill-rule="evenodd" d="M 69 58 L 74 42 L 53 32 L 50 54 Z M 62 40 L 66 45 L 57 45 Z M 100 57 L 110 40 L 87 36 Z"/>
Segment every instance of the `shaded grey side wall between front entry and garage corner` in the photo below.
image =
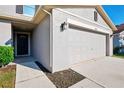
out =
<path fill-rule="evenodd" d="M 50 17 L 44 20 L 33 31 L 33 56 L 49 71 L 50 67 Z"/>

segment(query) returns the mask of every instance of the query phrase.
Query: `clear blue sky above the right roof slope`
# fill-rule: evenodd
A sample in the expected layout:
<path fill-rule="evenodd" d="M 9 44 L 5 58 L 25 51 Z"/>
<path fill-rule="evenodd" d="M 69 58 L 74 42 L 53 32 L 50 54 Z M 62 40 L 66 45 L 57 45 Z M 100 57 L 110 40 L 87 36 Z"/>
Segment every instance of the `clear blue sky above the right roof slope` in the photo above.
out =
<path fill-rule="evenodd" d="M 103 5 L 102 7 L 115 25 L 124 23 L 124 5 Z"/>

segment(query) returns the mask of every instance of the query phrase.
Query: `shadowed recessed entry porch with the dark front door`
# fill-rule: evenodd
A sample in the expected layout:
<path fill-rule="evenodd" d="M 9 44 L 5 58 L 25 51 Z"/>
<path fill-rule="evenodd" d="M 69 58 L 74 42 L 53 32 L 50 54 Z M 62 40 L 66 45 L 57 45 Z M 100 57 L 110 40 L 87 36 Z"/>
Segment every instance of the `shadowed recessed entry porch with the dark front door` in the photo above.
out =
<path fill-rule="evenodd" d="M 34 27 L 29 25 L 12 23 L 12 46 L 14 47 L 14 62 L 17 64 L 37 61 L 33 56 Z"/>

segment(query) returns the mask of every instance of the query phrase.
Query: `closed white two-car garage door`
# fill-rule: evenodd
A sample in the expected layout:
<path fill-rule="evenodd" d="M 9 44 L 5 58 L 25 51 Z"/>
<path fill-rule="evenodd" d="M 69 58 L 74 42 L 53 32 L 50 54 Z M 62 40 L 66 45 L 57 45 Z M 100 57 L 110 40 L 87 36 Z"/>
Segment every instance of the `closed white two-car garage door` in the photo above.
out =
<path fill-rule="evenodd" d="M 106 35 L 70 27 L 68 55 L 70 64 L 106 56 Z"/>

